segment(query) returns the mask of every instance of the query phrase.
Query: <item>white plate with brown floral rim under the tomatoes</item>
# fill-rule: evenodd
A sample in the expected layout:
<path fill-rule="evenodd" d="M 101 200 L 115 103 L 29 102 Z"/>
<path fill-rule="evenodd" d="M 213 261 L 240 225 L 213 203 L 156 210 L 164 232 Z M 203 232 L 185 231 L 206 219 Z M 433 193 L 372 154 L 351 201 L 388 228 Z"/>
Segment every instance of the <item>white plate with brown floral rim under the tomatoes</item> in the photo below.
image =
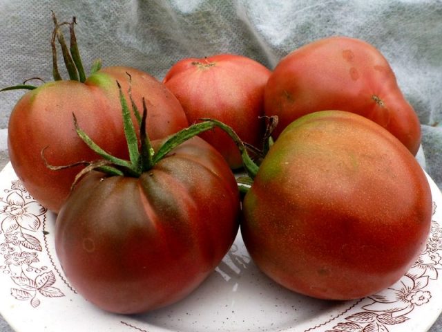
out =
<path fill-rule="evenodd" d="M 238 234 L 186 299 L 144 315 L 114 315 L 69 285 L 55 256 L 54 214 L 8 164 L 0 173 L 0 313 L 19 332 L 427 331 L 442 311 L 442 195 L 428 180 L 434 215 L 427 248 L 407 275 L 375 296 L 327 302 L 287 291 L 260 273 Z"/>

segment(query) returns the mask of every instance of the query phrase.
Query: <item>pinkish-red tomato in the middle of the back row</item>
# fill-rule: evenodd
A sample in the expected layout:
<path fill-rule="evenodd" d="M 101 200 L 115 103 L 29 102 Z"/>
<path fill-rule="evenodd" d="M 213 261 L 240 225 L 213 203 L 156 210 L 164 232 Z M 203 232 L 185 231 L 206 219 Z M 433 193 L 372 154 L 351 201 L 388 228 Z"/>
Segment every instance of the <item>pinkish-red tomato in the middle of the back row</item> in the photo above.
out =
<path fill-rule="evenodd" d="M 232 127 L 244 141 L 261 145 L 263 94 L 268 68 L 248 57 L 232 54 L 177 62 L 164 77 L 164 84 L 180 100 L 189 123 L 213 118 Z M 202 133 L 231 166 L 242 166 L 238 148 L 220 129 Z"/>

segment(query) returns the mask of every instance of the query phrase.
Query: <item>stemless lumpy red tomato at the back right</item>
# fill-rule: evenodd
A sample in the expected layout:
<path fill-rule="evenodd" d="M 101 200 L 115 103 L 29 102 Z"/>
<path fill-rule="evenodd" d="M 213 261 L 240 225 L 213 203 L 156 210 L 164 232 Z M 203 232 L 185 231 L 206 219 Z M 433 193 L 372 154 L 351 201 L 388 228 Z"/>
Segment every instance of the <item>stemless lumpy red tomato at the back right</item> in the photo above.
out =
<path fill-rule="evenodd" d="M 314 111 L 340 109 L 390 131 L 416 155 L 419 118 L 405 100 L 387 59 L 360 39 L 329 37 L 280 60 L 265 89 L 265 113 L 278 116 L 275 138 L 292 121 Z"/>

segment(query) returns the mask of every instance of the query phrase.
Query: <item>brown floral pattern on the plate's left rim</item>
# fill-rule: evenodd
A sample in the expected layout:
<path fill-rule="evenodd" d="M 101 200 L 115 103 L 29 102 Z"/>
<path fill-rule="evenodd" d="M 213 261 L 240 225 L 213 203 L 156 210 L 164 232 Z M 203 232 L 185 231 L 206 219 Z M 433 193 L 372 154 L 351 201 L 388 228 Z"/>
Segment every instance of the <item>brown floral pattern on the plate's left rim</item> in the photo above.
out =
<path fill-rule="evenodd" d="M 10 294 L 20 301 L 29 301 L 34 308 L 44 297 L 62 297 L 54 286 L 55 274 L 39 264 L 43 251 L 39 235 L 43 234 L 46 208 L 33 200 L 19 180 L 0 199 L 0 270 L 10 275 Z M 41 233 L 41 234 L 39 234 Z"/>

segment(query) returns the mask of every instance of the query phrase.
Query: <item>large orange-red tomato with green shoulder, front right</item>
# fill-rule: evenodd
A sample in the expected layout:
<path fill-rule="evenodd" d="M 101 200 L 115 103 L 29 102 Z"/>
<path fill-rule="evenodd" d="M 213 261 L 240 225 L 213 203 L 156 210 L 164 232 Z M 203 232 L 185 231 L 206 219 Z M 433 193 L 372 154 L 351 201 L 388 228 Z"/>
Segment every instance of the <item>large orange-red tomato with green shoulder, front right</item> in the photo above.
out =
<path fill-rule="evenodd" d="M 321 111 L 281 133 L 243 210 L 244 243 L 269 277 L 311 297 L 356 299 L 414 264 L 432 197 L 391 133 L 354 113 Z"/>

